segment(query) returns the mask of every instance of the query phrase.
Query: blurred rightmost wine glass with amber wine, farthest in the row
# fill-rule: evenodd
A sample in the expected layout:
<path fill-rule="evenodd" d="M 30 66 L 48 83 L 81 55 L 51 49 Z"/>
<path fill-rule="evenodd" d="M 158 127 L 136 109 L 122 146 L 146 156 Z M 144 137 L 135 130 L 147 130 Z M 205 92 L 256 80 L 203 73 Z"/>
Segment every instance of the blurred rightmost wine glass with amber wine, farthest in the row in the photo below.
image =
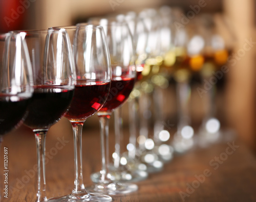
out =
<path fill-rule="evenodd" d="M 200 22 L 205 39 L 205 63 L 200 74 L 204 81 L 214 81 L 210 83 L 210 89 L 200 91 L 200 97 L 205 97 L 208 104 L 199 130 L 199 143 L 205 146 L 205 144 L 215 142 L 220 138 L 221 124 L 216 114 L 217 83 L 224 78 L 222 67 L 227 63 L 236 37 L 231 34 L 228 21 L 220 14 L 202 14 Z"/>

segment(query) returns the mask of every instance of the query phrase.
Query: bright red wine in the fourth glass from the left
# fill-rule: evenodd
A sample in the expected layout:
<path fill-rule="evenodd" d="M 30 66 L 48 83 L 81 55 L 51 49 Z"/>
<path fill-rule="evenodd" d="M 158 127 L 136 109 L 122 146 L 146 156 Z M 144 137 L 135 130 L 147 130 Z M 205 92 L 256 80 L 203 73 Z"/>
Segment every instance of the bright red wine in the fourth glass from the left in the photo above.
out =
<path fill-rule="evenodd" d="M 135 78 L 113 78 L 109 96 L 100 111 L 112 111 L 122 105 L 132 92 L 134 83 Z"/>

